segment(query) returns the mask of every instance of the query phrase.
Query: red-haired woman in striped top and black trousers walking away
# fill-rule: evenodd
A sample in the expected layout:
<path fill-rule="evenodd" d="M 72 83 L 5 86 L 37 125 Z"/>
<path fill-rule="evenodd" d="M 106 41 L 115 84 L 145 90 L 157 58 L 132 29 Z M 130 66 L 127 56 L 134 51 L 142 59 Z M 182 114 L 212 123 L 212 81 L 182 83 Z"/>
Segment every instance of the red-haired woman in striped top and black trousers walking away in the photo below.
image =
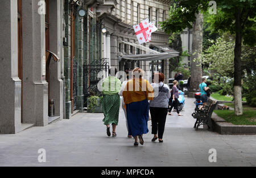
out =
<path fill-rule="evenodd" d="M 155 73 L 154 78 L 155 83 L 152 84 L 152 87 L 154 88 L 154 100 L 150 101 L 152 134 L 154 135 L 152 142 L 159 139 L 159 142 L 163 143 L 164 127 L 166 126 L 166 117 L 171 92 L 169 86 L 164 84 L 163 73 Z M 156 90 L 158 90 L 158 93 L 156 93 Z"/>

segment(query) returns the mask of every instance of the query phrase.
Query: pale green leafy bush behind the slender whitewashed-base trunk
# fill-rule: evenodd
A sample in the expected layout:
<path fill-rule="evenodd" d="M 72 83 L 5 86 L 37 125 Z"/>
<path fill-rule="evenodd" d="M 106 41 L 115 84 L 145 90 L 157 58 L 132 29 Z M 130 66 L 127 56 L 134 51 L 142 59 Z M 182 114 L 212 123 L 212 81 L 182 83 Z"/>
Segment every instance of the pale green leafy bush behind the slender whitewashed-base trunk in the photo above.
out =
<path fill-rule="evenodd" d="M 203 52 L 201 60 L 207 64 L 207 70 L 216 71 L 218 77 L 234 76 L 234 38 L 232 35 L 224 34 Z M 256 48 L 242 45 L 241 53 L 242 77 L 250 76 L 256 72 Z"/>

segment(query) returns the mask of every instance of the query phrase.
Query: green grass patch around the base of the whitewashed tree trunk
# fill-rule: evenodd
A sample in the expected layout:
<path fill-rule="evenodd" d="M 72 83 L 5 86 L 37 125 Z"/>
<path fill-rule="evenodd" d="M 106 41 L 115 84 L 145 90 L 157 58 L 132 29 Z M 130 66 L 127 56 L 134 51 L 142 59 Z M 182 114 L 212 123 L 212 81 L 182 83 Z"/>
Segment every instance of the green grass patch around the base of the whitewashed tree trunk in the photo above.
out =
<path fill-rule="evenodd" d="M 234 104 L 226 105 L 234 107 Z M 235 115 L 232 110 L 215 110 L 214 113 L 234 125 L 256 125 L 256 107 L 246 104 L 243 104 L 243 115 L 240 116 Z"/>

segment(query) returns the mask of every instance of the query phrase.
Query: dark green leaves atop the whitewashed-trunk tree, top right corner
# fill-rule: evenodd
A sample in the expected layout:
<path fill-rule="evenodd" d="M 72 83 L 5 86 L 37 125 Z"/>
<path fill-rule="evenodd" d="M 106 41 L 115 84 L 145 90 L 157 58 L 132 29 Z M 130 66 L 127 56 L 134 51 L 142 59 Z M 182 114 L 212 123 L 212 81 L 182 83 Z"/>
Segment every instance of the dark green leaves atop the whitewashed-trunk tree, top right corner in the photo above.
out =
<path fill-rule="evenodd" d="M 236 14 L 240 14 L 241 34 L 245 45 L 256 44 L 256 1 L 255 0 L 217 0 L 217 14 L 209 15 L 208 30 L 230 32 L 236 35 Z"/>

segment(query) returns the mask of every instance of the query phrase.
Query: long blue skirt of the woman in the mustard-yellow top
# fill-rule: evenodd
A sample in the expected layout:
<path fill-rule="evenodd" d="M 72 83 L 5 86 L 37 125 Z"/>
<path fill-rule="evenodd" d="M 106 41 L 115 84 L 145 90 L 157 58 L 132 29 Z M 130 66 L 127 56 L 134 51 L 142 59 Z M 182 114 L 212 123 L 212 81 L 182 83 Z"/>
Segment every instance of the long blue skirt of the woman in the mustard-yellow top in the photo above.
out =
<path fill-rule="evenodd" d="M 147 100 L 126 105 L 129 134 L 138 136 L 148 133 L 149 104 Z"/>

